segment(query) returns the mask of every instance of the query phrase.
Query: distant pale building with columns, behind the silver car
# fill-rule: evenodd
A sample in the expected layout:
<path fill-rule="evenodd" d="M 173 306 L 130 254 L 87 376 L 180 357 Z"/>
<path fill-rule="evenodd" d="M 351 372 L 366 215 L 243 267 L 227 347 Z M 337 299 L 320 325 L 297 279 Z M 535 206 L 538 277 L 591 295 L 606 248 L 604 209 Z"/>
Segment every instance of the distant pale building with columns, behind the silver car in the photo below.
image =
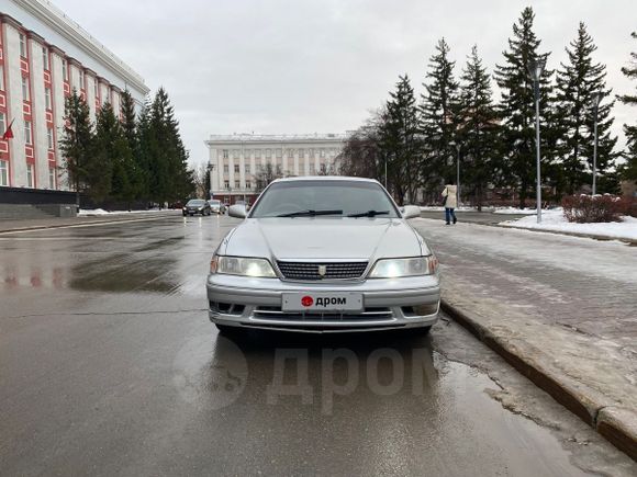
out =
<path fill-rule="evenodd" d="M 254 202 L 268 164 L 281 177 L 334 173 L 345 139 L 343 134 L 211 135 L 205 141 L 211 195 L 230 204 Z"/>

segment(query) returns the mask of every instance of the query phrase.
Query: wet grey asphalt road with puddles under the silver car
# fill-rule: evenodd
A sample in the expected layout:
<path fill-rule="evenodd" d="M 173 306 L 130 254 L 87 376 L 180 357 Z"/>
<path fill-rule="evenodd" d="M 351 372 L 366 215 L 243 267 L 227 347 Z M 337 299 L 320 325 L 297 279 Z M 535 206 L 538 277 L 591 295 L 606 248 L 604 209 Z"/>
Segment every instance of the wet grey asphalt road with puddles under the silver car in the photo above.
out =
<path fill-rule="evenodd" d="M 204 279 L 234 224 L 0 235 L 1 475 L 634 469 L 447 318 L 429 338 L 220 337 Z"/>

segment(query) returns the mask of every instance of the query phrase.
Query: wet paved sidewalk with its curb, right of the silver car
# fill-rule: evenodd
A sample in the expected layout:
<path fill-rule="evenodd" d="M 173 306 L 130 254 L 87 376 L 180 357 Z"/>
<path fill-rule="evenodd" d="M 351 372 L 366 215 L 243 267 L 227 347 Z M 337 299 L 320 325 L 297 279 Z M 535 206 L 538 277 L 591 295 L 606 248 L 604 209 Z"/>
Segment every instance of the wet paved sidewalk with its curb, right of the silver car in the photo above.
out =
<path fill-rule="evenodd" d="M 637 253 L 554 234 L 415 219 L 445 308 L 637 459 Z"/>

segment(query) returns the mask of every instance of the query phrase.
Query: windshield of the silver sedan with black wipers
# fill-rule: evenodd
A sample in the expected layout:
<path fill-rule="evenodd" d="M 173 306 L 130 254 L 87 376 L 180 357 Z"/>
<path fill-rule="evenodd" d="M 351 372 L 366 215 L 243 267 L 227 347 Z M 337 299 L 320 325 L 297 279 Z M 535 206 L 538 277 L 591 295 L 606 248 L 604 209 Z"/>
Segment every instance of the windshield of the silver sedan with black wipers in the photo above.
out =
<path fill-rule="evenodd" d="M 399 217 L 380 184 L 366 181 L 283 181 L 271 184 L 250 217 L 302 216 Z"/>

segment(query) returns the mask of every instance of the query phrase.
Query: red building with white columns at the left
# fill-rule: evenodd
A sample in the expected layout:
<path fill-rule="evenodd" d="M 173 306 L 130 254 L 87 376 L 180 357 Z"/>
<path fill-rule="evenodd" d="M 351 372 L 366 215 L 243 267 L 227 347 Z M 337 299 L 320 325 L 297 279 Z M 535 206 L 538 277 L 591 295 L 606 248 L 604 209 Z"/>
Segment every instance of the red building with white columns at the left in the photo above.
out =
<path fill-rule="evenodd" d="M 143 78 L 48 0 L 0 7 L 0 186 L 66 190 L 59 140 L 65 99 L 77 90 L 91 120 L 127 89 L 141 106 Z"/>

